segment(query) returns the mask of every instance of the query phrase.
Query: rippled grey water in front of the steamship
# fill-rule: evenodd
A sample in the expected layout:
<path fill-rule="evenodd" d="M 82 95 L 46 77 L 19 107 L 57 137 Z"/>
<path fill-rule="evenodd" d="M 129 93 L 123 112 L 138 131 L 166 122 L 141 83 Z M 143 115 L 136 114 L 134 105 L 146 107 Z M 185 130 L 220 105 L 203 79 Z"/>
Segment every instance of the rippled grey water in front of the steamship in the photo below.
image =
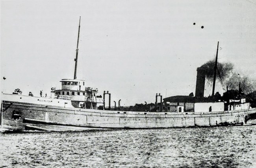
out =
<path fill-rule="evenodd" d="M 2 167 L 256 167 L 256 126 L 0 134 Z"/>

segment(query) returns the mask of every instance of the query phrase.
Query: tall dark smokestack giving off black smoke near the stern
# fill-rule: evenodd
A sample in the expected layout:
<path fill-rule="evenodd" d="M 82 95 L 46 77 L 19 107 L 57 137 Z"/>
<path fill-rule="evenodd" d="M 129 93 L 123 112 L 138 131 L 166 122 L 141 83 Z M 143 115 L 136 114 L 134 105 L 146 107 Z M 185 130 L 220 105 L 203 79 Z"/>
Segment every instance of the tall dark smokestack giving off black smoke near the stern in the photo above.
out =
<path fill-rule="evenodd" d="M 205 72 L 203 68 L 197 68 L 197 84 L 195 97 L 204 97 Z"/>

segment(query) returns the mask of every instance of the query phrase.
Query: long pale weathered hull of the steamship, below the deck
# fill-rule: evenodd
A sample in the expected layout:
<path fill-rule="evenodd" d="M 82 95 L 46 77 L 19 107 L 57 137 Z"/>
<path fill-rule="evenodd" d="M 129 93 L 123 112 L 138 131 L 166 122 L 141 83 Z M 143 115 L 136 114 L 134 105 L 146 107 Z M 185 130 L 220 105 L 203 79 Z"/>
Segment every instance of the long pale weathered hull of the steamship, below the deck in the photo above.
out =
<path fill-rule="evenodd" d="M 134 112 L 3 101 L 2 130 L 84 131 L 243 125 L 255 108 L 220 112 Z"/>

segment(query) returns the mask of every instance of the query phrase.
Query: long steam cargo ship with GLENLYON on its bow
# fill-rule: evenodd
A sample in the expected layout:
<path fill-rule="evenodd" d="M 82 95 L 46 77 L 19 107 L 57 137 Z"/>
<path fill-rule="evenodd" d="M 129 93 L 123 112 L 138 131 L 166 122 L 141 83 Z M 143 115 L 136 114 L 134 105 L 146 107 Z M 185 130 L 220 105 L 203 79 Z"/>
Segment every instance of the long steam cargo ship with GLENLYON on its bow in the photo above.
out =
<path fill-rule="evenodd" d="M 81 20 L 81 17 L 80 17 Z M 245 99 L 228 102 L 186 102 L 176 100 L 162 102 L 156 94 L 155 111 L 111 110 L 110 93 L 98 96 L 98 89 L 77 79 L 78 44 L 76 47 L 74 79 L 61 79 L 61 89 L 51 88 L 50 96 L 28 95 L 16 89 L 12 94 L 2 93 L 1 131 L 84 131 L 98 129 L 149 129 L 173 127 L 209 127 L 244 125 L 256 108 Z M 218 55 L 219 42 L 217 46 Z M 217 66 L 216 55 L 216 66 Z M 215 68 L 216 78 L 216 68 Z M 197 83 L 204 79 L 197 76 Z M 214 81 L 215 83 L 215 81 Z M 215 85 L 215 84 L 214 84 Z M 214 87 L 213 85 L 213 87 Z M 203 96 L 203 86 L 197 85 L 196 96 Z M 214 94 L 214 88 L 213 88 Z M 105 96 L 109 96 L 109 109 L 105 108 Z M 161 102 L 158 103 L 158 97 Z M 175 97 L 179 99 L 179 97 Z M 169 101 L 169 102 L 168 102 Z M 99 108 L 102 107 L 102 109 Z"/>

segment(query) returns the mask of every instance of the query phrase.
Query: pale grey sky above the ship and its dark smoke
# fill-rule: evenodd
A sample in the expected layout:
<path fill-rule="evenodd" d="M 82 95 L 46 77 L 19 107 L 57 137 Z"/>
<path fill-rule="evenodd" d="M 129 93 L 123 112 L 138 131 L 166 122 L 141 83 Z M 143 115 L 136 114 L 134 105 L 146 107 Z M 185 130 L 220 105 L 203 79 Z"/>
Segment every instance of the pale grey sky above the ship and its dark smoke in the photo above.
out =
<path fill-rule="evenodd" d="M 49 95 L 74 77 L 80 16 L 77 78 L 98 95 L 108 90 L 111 105 L 195 94 L 197 67 L 215 58 L 218 41 L 219 62 L 256 78 L 256 0 L 1 0 L 0 7 L 6 93 Z"/>

